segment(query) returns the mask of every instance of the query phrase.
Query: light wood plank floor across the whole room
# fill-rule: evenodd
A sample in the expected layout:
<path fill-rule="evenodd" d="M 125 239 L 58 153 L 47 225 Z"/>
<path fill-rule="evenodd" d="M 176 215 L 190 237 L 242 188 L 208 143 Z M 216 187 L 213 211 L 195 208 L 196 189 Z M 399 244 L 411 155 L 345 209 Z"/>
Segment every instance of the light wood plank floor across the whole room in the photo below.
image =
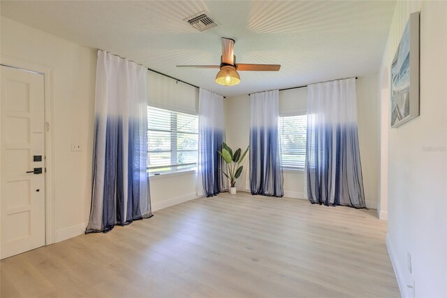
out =
<path fill-rule="evenodd" d="M 375 211 L 247 193 L 1 261 L 1 297 L 400 297 Z"/>

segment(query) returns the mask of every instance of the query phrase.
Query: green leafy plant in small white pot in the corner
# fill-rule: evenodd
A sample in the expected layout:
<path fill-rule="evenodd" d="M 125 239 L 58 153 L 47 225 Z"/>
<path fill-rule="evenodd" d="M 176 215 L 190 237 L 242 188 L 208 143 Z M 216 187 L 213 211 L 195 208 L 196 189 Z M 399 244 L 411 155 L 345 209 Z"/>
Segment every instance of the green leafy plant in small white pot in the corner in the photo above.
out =
<path fill-rule="evenodd" d="M 241 166 L 240 164 L 242 164 L 245 155 L 247 155 L 247 152 L 249 151 L 249 148 L 250 146 L 247 147 L 247 150 L 245 150 L 244 154 L 242 155 L 240 148 L 238 148 L 233 154 L 233 150 L 231 150 L 226 143 L 223 143 L 222 151 L 217 150 L 219 155 L 221 155 L 226 163 L 226 172 L 223 171 L 223 169 L 221 169 L 221 171 L 223 175 L 230 180 L 230 194 L 236 193 L 236 179 L 240 177 L 242 169 L 244 169 L 244 166 Z"/>

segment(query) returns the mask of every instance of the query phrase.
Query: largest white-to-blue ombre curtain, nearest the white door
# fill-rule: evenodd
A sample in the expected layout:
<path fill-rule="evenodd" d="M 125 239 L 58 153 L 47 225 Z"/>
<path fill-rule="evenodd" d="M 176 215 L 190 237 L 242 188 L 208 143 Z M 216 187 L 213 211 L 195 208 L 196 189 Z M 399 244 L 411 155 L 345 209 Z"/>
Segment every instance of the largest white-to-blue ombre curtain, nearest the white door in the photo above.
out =
<path fill-rule="evenodd" d="M 91 212 L 86 233 L 152 216 L 147 68 L 98 50 Z"/>

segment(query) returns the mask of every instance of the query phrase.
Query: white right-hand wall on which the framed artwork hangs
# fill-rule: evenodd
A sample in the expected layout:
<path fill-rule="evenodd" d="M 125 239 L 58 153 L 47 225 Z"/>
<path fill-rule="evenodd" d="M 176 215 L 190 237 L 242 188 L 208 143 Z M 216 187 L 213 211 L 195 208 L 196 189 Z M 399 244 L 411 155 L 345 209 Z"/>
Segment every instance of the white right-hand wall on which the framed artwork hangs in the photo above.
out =
<path fill-rule="evenodd" d="M 383 92 L 382 136 L 388 143 L 388 235 L 401 294 L 447 297 L 447 3 L 397 1 L 381 64 L 387 90 L 390 63 L 409 14 L 420 10 L 420 116 L 390 129 Z M 430 150 L 431 148 L 431 150 Z M 383 178 L 383 177 L 381 177 Z M 412 273 L 407 269 L 411 253 Z"/>

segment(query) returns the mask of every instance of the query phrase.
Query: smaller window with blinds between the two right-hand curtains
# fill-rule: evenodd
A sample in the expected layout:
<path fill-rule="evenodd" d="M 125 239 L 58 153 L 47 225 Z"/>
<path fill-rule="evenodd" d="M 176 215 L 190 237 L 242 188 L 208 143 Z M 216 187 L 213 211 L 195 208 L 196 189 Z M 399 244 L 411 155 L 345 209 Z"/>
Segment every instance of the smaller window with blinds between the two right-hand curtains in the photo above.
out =
<path fill-rule="evenodd" d="M 284 169 L 304 169 L 306 160 L 307 115 L 279 117 L 281 165 Z"/>

